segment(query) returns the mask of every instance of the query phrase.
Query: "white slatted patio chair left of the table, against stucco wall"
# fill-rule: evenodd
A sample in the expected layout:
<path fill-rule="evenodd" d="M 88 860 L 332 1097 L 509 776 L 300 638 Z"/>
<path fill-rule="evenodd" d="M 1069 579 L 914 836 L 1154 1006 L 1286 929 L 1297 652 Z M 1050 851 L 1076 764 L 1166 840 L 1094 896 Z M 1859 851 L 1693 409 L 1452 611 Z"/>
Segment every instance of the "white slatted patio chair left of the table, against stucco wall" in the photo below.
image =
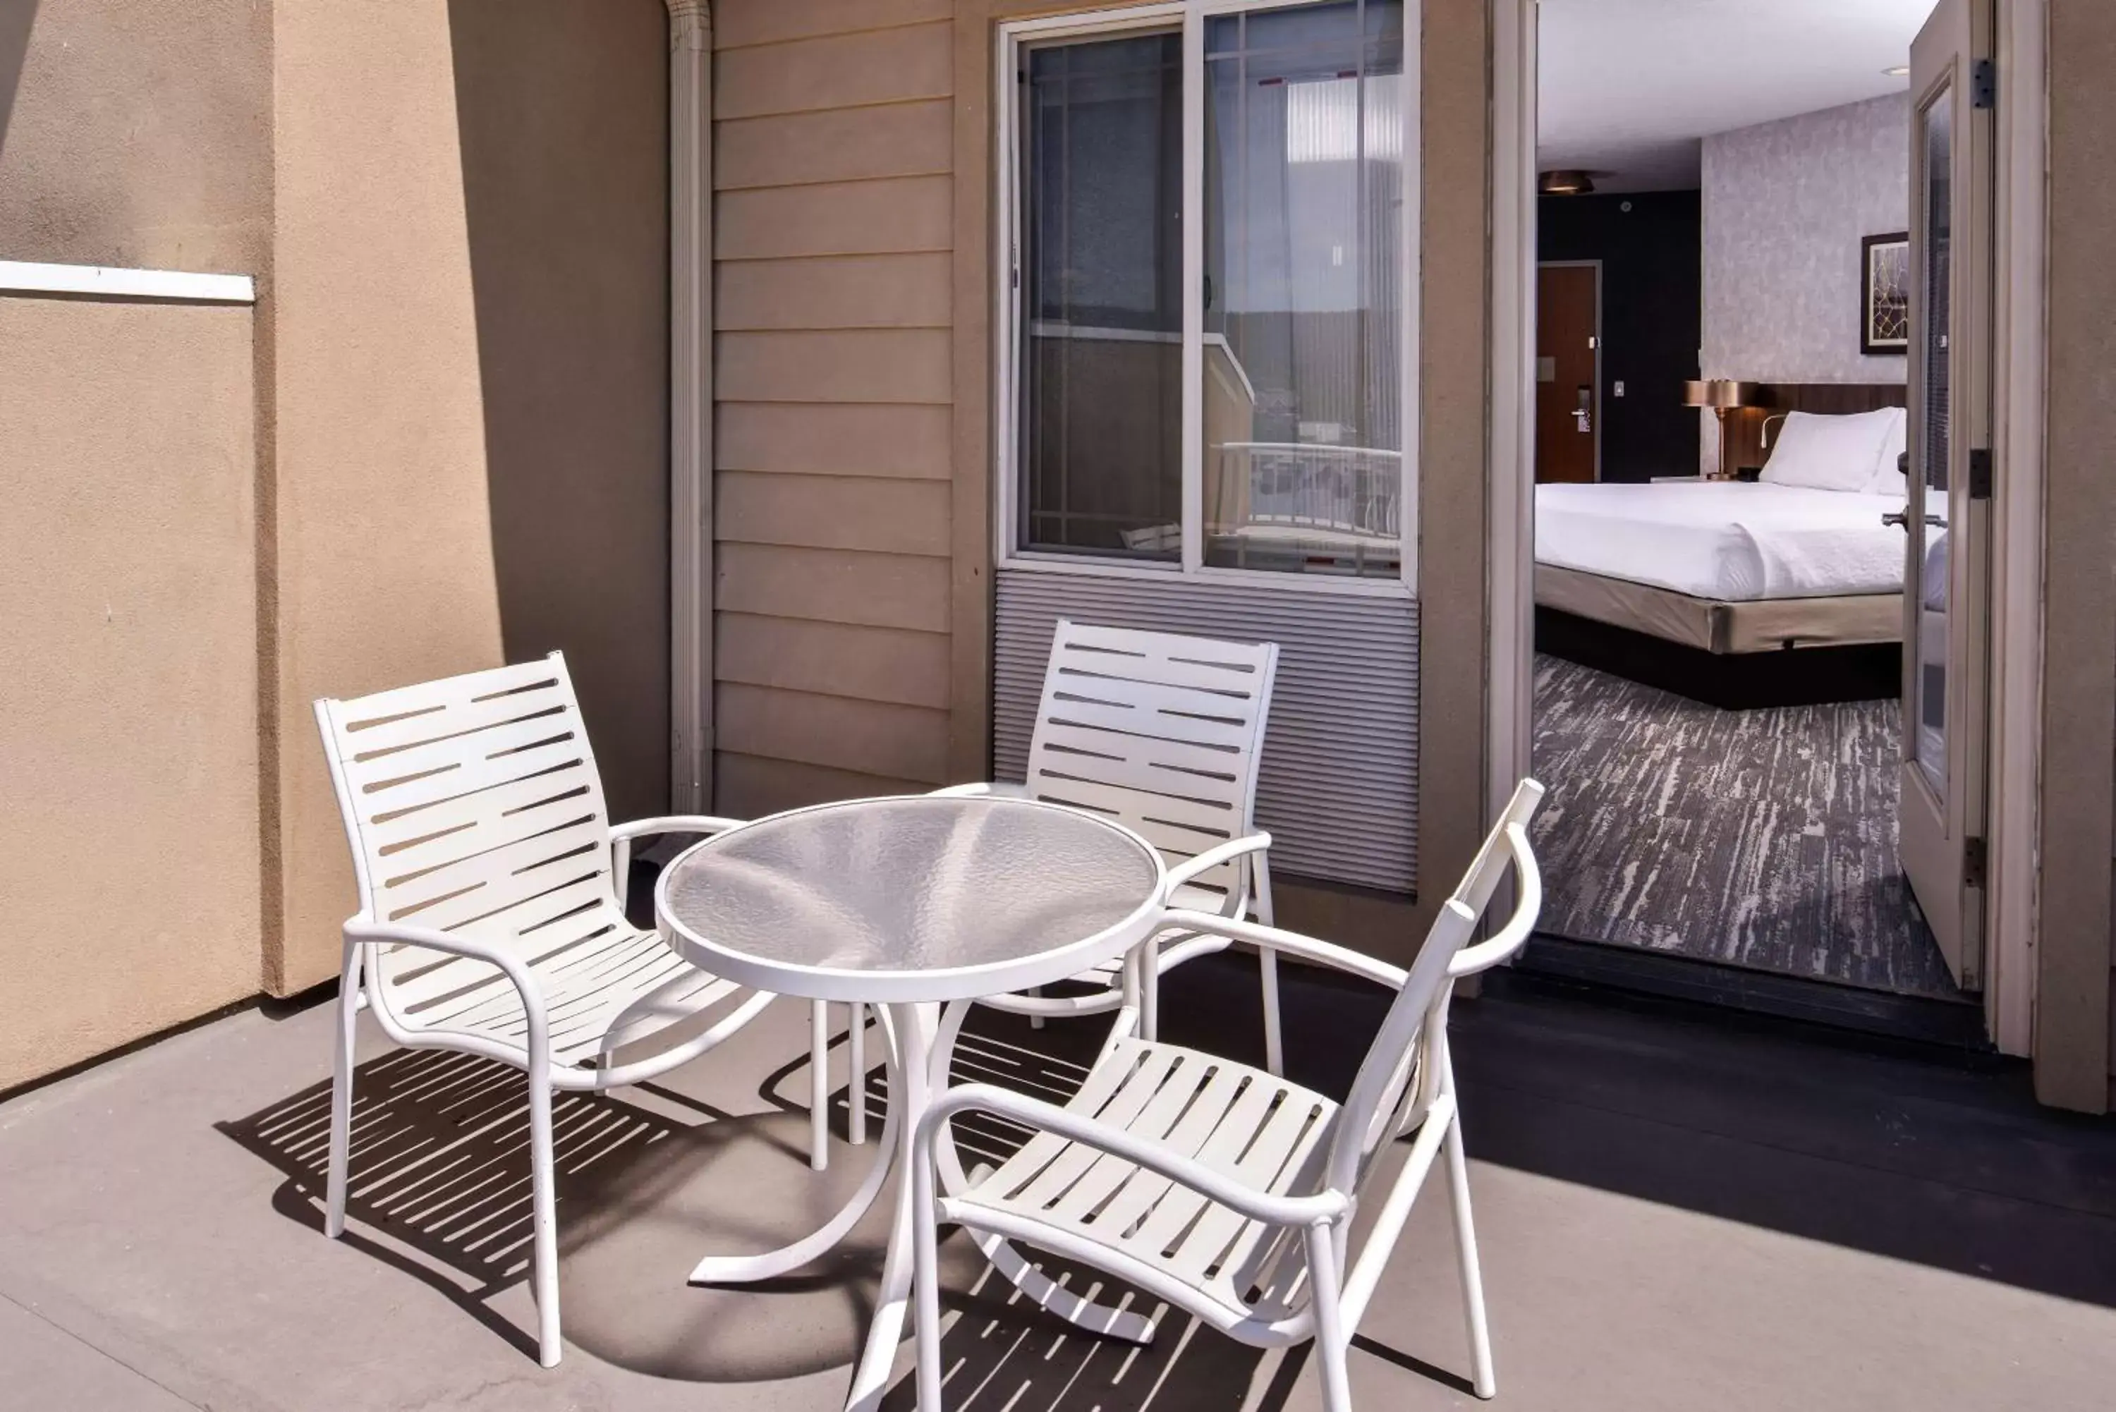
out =
<path fill-rule="evenodd" d="M 686 815 L 612 828 L 557 652 L 317 701 L 315 720 L 360 883 L 339 980 L 324 1232 L 345 1232 L 358 1010 L 372 1010 L 398 1044 L 525 1069 L 531 1287 L 537 1359 L 550 1368 L 559 1361 L 552 1092 L 667 1073 L 774 999 L 692 967 L 624 919 L 635 838 L 715 834 L 734 821 Z M 707 1014 L 724 1003 L 726 1014 Z M 827 1139 L 821 1033 L 813 1025 L 817 1166 Z"/>

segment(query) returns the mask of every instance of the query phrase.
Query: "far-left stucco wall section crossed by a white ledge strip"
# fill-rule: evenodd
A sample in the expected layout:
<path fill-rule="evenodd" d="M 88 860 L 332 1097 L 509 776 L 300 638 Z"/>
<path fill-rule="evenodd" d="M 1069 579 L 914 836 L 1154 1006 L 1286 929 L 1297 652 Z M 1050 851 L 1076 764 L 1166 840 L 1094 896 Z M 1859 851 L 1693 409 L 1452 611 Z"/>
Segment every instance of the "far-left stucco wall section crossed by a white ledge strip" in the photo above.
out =
<path fill-rule="evenodd" d="M 0 258 L 260 273 L 269 34 L 0 4 Z M 258 989 L 252 343 L 0 294 L 0 1088 Z"/>

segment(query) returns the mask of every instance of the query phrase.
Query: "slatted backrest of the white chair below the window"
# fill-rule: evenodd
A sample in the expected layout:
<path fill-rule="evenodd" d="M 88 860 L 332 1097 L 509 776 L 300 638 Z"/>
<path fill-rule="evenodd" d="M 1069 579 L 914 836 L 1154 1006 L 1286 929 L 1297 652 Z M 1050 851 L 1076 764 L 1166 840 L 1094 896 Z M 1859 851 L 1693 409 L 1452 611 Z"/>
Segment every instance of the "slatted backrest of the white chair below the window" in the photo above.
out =
<path fill-rule="evenodd" d="M 1058 620 L 1028 743 L 1028 792 L 1136 830 L 1170 862 L 1251 832 L 1274 641 Z M 1246 898 L 1246 859 L 1198 887 Z"/>

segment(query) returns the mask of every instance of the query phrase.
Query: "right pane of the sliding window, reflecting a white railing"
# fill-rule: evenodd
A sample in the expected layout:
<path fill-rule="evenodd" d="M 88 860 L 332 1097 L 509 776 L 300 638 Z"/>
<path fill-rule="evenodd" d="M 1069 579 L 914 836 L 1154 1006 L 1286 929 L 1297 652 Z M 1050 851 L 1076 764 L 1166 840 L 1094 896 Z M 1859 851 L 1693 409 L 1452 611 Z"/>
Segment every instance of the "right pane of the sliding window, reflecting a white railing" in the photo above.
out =
<path fill-rule="evenodd" d="M 1403 6 L 1206 28 L 1206 563 L 1392 578 Z"/>

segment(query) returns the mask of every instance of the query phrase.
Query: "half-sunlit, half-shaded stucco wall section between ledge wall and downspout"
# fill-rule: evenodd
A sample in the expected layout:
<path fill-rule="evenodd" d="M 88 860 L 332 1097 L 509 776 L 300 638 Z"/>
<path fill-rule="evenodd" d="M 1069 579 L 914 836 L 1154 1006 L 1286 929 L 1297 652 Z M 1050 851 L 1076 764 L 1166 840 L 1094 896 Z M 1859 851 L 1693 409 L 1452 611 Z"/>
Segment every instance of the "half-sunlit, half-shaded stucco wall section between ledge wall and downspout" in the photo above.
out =
<path fill-rule="evenodd" d="M 559 648 L 667 800 L 664 72 L 660 0 L 277 11 L 275 993 L 355 902 L 315 696 Z"/>

